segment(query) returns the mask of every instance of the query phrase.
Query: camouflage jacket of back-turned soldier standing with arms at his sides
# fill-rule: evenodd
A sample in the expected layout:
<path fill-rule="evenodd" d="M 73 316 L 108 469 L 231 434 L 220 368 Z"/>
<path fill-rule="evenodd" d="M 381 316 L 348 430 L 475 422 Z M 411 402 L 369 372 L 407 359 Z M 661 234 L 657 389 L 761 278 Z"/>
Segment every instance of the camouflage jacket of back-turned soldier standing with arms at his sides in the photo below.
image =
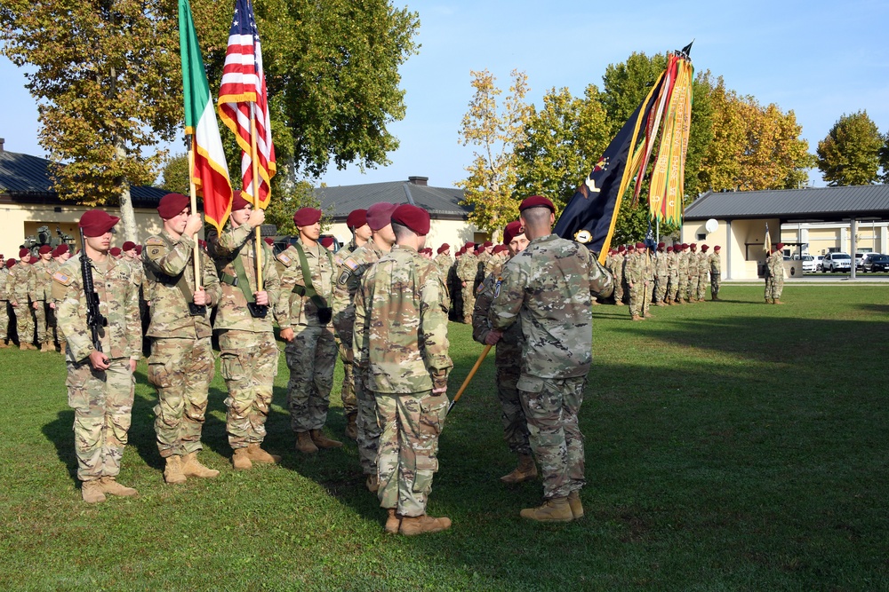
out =
<path fill-rule="evenodd" d="M 353 351 L 373 392 L 411 393 L 446 385 L 447 288 L 435 264 L 396 245 L 373 264 L 355 295 Z"/>

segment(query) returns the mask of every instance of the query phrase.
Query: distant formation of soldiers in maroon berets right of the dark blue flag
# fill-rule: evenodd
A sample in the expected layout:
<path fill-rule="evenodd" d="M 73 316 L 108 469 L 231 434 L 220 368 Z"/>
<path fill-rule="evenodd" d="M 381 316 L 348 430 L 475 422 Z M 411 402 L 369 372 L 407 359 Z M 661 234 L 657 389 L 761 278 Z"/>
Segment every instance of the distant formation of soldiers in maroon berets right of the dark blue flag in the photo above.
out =
<path fill-rule="evenodd" d="M 650 306 L 701 303 L 719 300 L 722 262 L 719 245 L 708 253 L 709 246 L 696 243 L 666 246 L 658 243 L 649 249 L 644 242 L 611 249 L 605 267 L 614 278 L 613 303 L 629 304 L 632 320 L 653 315 Z M 766 296 L 768 297 L 768 296 Z"/>

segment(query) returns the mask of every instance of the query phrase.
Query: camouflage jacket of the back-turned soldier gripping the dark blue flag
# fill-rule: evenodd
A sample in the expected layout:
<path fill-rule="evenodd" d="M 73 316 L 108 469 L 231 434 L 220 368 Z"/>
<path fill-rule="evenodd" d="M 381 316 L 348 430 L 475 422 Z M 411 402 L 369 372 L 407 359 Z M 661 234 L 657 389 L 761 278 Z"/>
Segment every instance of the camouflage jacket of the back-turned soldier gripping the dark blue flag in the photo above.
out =
<path fill-rule="evenodd" d="M 503 267 L 500 294 L 491 304 L 491 326 L 502 331 L 521 318 L 524 374 L 585 376 L 592 363 L 590 295 L 612 293 L 611 274 L 589 249 L 548 234 L 531 241 Z"/>

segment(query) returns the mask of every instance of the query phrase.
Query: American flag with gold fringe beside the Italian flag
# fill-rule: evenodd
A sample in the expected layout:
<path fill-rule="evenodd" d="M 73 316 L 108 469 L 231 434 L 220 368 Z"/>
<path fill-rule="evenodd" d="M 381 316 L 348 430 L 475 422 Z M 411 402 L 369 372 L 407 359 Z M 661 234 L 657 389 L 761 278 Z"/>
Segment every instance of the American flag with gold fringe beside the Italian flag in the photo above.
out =
<path fill-rule="evenodd" d="M 275 175 L 275 146 L 268 117 L 266 76 L 262 69 L 260 34 L 250 0 L 236 0 L 235 16 L 228 31 L 228 50 L 222 70 L 218 101 L 220 118 L 235 132 L 241 146 L 241 179 L 245 199 L 265 209 L 271 193 L 269 180 Z M 253 161 L 250 140 L 251 114 L 256 121 L 256 163 L 259 199 L 253 199 Z"/>

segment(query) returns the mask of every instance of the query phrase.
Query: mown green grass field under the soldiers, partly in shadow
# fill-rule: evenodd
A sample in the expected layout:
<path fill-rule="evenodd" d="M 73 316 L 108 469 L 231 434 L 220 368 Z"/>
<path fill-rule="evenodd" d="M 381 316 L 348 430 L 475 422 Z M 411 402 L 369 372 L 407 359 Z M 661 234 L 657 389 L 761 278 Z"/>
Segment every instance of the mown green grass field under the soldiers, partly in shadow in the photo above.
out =
<path fill-rule="evenodd" d="M 164 485 L 143 362 L 120 478 L 140 496 L 88 506 L 60 355 L 0 351 L 0 589 L 889 589 L 887 288 L 722 296 L 635 323 L 594 309 L 586 517 L 567 525 L 518 517 L 539 481 L 498 480 L 515 461 L 492 355 L 441 438 L 429 511 L 453 528 L 413 539 L 382 533 L 354 443 L 295 453 L 283 356 L 266 441 L 280 466 L 231 470 L 217 374 L 202 459 L 222 474 Z M 452 392 L 482 349 L 469 334 L 451 326 Z"/>

